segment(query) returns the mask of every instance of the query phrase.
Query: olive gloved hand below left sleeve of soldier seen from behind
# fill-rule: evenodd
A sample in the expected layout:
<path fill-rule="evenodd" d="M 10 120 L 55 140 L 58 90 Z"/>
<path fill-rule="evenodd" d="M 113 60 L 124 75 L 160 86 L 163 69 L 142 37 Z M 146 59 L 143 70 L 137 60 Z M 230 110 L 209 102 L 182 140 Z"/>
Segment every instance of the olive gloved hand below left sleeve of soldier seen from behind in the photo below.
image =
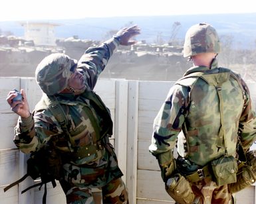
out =
<path fill-rule="evenodd" d="M 172 151 L 164 152 L 162 154 L 158 154 L 156 156 L 158 159 L 158 164 L 161 169 L 161 176 L 164 182 L 170 178 L 174 170 L 176 170 L 176 162 L 174 160 L 174 155 L 172 154 Z"/>

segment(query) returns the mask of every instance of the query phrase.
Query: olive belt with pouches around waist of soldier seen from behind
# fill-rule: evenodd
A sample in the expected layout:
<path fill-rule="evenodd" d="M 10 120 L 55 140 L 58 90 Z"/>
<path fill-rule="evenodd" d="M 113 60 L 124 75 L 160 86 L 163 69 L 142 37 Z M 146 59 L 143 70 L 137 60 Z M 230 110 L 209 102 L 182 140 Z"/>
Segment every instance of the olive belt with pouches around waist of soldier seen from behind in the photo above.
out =
<path fill-rule="evenodd" d="M 210 178 L 218 186 L 237 181 L 237 160 L 233 156 L 221 156 L 205 166 L 193 164 L 190 160 L 178 157 L 177 169 L 188 181 L 197 182 L 201 179 Z"/>

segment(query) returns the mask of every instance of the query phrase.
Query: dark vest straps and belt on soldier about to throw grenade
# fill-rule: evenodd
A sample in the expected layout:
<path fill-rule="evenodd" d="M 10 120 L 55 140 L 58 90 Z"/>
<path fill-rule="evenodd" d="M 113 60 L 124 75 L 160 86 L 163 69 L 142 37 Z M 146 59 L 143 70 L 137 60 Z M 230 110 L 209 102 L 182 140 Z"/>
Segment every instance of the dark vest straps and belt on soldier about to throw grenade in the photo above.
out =
<path fill-rule="evenodd" d="M 70 122 L 66 118 L 66 113 L 64 113 L 61 103 L 57 100 L 54 95 L 43 95 L 41 102 L 36 106 L 37 111 L 40 109 L 48 108 L 53 116 L 57 119 L 59 125 L 63 129 L 63 135 L 59 136 L 59 140 L 65 140 L 68 144 L 68 149 L 70 154 L 66 154 L 66 158 L 71 161 L 76 161 L 75 164 L 88 164 L 99 160 L 104 155 L 104 138 L 112 135 L 112 119 L 110 116 L 110 111 L 104 105 L 102 99 L 94 93 L 94 91 L 85 91 L 82 93 L 82 97 L 90 101 L 90 106 L 87 103 L 82 103 L 82 110 L 86 113 L 86 116 L 90 119 L 90 123 L 94 128 L 95 134 L 92 134 L 91 144 L 86 144 L 85 146 L 76 146 L 74 140 L 68 131 L 68 125 Z M 80 103 L 81 104 L 81 103 Z M 45 106 L 47 105 L 47 106 Z M 92 108 L 96 112 L 96 117 L 92 112 Z M 103 123 L 100 123 L 98 119 L 103 119 Z M 60 143 L 57 140 L 55 144 L 57 148 Z"/>

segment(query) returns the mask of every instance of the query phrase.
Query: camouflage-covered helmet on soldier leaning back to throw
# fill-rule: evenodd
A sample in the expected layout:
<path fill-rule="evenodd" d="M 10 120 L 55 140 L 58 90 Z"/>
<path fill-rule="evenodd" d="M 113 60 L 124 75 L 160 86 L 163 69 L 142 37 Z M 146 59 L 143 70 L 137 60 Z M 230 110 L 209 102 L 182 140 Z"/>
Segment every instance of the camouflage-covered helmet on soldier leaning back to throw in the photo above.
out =
<path fill-rule="evenodd" d="M 61 53 L 50 54 L 37 66 L 37 83 L 47 95 L 60 93 L 68 85 L 68 79 L 76 68 L 76 60 Z"/>

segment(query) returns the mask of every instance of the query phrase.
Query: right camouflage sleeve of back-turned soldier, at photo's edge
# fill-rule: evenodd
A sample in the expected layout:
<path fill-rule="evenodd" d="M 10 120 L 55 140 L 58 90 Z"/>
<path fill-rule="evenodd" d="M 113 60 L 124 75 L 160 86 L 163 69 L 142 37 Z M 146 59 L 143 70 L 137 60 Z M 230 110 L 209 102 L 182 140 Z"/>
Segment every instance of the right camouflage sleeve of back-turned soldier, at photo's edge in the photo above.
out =
<path fill-rule="evenodd" d="M 239 138 L 245 152 L 249 150 L 250 146 L 256 139 L 256 113 L 251 100 L 249 88 L 241 79 L 241 83 L 245 89 L 245 107 L 239 120 Z"/>

